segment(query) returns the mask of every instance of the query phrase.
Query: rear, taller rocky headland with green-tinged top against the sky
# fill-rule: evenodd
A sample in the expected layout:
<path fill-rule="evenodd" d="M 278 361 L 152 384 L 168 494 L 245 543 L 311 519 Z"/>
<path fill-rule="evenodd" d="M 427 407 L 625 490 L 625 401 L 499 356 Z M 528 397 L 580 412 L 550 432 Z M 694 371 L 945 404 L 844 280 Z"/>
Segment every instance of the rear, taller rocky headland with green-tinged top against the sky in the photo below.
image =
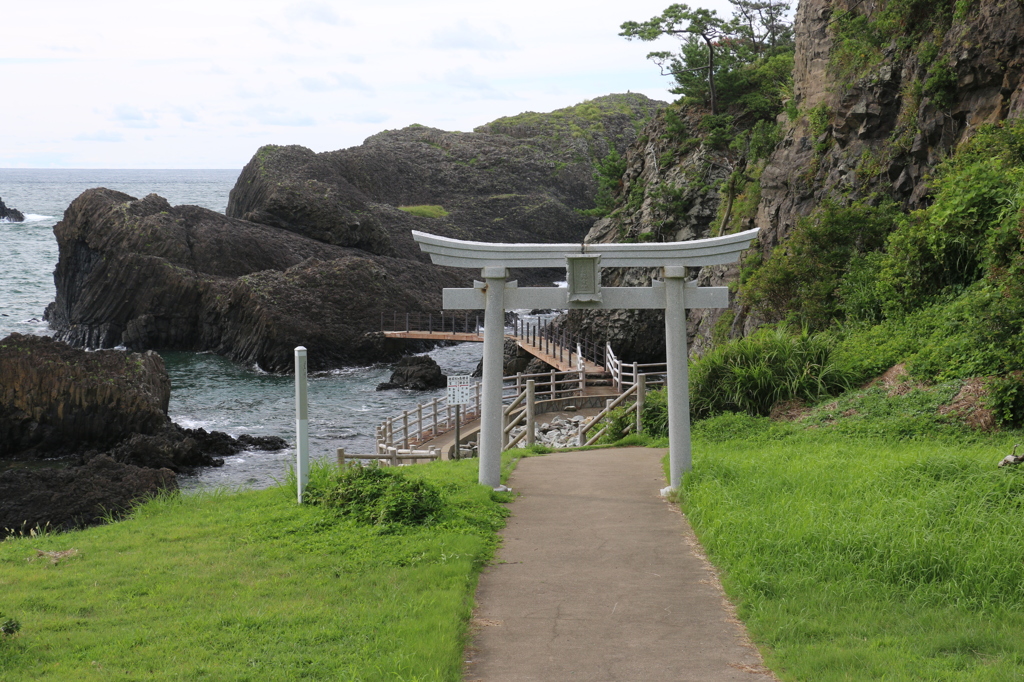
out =
<path fill-rule="evenodd" d="M 624 153 L 636 123 L 660 105 L 637 93 L 607 95 L 471 133 L 412 125 L 324 154 L 267 145 L 243 169 L 227 215 L 416 260 L 427 258 L 413 229 L 481 242 L 577 242 L 593 222 L 578 209 L 593 206 L 594 162 Z M 422 206 L 441 210 L 398 210 Z"/>

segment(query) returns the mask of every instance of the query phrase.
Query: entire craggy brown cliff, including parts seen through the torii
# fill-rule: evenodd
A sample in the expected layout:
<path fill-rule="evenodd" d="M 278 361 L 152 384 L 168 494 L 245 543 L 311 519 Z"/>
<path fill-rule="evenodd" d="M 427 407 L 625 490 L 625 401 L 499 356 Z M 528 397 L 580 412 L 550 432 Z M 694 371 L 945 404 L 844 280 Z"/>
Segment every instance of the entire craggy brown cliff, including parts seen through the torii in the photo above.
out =
<path fill-rule="evenodd" d="M 727 190 L 735 155 L 680 139 L 699 133 L 666 134 L 667 125 L 680 129 L 679 121 L 695 130 L 702 113 L 682 110 L 671 125 L 663 114 L 627 154 L 627 201 L 595 224 L 588 240 L 699 239 L 723 226 L 757 226 L 764 261 L 786 244 L 801 218 L 826 202 L 892 200 L 904 211 L 927 206 L 928 178 L 939 162 L 980 126 L 1024 116 L 1024 6 L 1017 0 L 803 0 L 795 31 L 793 98 L 777 119 L 780 141 L 766 162 L 748 163 L 743 172 L 756 182 L 745 197 Z M 735 205 L 724 205 L 730 196 Z M 739 273 L 738 264 L 706 267 L 697 279 L 741 292 Z M 650 276 L 638 271 L 611 279 L 640 285 Z M 727 310 L 690 311 L 691 353 L 766 322 L 740 300 L 733 295 Z M 654 315 L 573 314 L 567 324 L 603 332 L 641 361 L 664 353 Z"/>

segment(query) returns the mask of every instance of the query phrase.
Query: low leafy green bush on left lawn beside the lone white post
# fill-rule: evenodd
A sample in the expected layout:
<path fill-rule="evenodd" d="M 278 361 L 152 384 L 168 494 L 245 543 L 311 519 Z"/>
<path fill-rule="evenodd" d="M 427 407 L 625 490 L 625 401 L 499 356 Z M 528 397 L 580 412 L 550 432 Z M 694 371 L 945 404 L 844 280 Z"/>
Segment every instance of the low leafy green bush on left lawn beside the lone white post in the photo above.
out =
<path fill-rule="evenodd" d="M 426 525 L 436 520 L 444 507 L 436 485 L 412 478 L 400 469 L 356 463 L 333 475 L 322 473 L 311 478 L 303 500 L 372 525 Z"/>

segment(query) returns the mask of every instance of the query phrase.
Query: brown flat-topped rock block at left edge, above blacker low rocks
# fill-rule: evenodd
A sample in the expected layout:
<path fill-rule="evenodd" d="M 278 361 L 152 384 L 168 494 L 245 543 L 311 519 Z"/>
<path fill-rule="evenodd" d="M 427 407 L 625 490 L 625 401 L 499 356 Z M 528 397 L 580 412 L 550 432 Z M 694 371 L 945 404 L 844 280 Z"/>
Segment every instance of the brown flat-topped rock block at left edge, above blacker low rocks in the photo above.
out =
<path fill-rule="evenodd" d="M 167 423 L 171 384 L 153 351 L 84 352 L 47 337 L 0 341 L 0 457 L 105 449 Z"/>

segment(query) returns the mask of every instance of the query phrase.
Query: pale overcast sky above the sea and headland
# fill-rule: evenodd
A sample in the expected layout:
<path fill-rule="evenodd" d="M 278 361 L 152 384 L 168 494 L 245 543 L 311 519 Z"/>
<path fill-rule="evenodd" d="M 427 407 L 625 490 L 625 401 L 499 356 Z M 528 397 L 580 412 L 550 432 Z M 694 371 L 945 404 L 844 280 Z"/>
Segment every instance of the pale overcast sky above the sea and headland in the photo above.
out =
<path fill-rule="evenodd" d="M 412 123 L 470 131 L 612 92 L 672 99 L 618 36 L 671 0 L 4 2 L 0 167 L 241 168 Z M 727 0 L 690 3 L 731 15 Z"/>

